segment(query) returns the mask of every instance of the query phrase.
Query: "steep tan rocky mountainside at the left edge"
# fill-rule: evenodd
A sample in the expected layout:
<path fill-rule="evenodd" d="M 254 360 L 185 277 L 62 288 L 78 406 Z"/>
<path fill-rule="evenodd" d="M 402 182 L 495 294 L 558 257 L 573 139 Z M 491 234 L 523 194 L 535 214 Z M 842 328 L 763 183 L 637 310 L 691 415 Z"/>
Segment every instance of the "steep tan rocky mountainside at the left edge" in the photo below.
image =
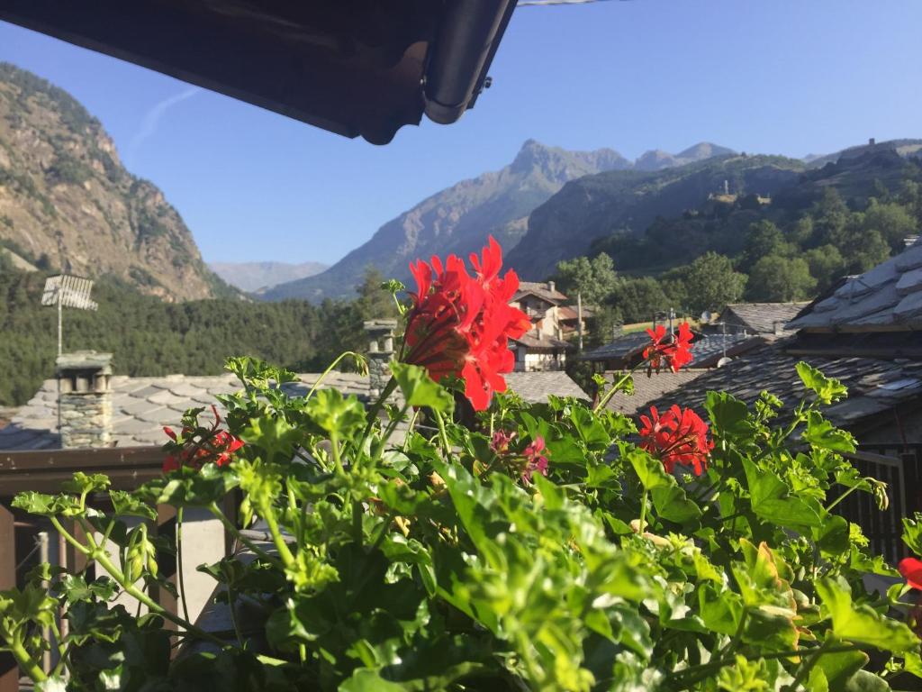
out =
<path fill-rule="evenodd" d="M 0 245 L 42 269 L 111 275 L 178 301 L 236 292 L 183 219 L 125 171 L 99 121 L 63 89 L 0 63 Z"/>

